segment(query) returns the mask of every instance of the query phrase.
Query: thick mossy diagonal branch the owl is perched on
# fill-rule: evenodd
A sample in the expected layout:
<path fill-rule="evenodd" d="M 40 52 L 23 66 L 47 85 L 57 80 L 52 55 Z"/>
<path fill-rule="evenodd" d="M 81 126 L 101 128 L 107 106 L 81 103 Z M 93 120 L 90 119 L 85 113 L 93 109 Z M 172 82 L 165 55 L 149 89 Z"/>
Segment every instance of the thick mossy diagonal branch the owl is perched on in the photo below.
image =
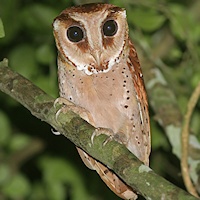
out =
<path fill-rule="evenodd" d="M 76 146 L 111 168 L 146 199 L 197 199 L 143 165 L 124 145 L 111 141 L 103 146 L 106 135 L 95 137 L 94 144 L 91 144 L 95 128 L 73 112 L 61 113 L 56 121 L 55 115 L 59 106 L 53 106 L 54 99 L 9 69 L 6 60 L 0 63 L 0 90 L 20 102 L 32 115 L 50 124 Z"/>

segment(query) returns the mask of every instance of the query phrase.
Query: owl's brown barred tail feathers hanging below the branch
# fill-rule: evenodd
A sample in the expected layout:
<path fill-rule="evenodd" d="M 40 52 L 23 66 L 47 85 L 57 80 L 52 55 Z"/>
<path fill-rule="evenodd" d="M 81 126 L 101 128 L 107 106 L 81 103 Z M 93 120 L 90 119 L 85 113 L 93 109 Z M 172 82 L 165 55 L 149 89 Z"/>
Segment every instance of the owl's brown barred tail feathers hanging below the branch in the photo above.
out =
<path fill-rule="evenodd" d="M 116 195 L 122 199 L 137 199 L 137 194 L 133 192 L 132 188 L 126 185 L 117 175 L 113 173 L 112 170 L 108 169 L 105 165 L 92 158 L 82 149 L 77 147 L 77 150 L 84 164 L 88 168 L 96 170 L 101 179 Z"/>

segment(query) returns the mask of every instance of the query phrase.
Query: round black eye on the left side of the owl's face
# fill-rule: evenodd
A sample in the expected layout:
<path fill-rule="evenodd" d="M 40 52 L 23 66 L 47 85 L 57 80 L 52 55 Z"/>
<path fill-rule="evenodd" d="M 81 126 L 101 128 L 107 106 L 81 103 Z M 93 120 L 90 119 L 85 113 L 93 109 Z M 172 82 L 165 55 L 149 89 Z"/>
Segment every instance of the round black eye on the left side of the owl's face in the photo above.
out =
<path fill-rule="evenodd" d="M 84 38 L 84 32 L 78 26 L 71 26 L 67 29 L 67 37 L 71 42 L 80 42 Z"/>

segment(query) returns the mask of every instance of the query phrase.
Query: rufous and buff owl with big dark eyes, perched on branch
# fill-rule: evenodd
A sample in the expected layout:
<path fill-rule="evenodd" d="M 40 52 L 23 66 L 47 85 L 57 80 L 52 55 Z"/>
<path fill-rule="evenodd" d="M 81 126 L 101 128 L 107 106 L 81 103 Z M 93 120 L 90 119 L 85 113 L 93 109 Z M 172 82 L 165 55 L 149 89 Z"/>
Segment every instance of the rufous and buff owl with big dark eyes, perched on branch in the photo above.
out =
<path fill-rule="evenodd" d="M 148 102 L 125 9 L 101 3 L 67 8 L 55 18 L 53 29 L 60 96 L 87 110 L 90 117 L 85 120 L 111 130 L 148 165 Z M 96 170 L 113 192 L 122 199 L 137 199 L 111 169 L 77 149 L 85 165 Z"/>

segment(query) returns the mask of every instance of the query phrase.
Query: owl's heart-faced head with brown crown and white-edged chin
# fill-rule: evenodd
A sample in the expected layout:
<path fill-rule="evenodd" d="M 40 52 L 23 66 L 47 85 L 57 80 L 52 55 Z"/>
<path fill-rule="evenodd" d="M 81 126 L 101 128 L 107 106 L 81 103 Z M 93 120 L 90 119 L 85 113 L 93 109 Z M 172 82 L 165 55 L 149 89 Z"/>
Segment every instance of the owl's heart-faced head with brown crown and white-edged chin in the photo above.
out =
<path fill-rule="evenodd" d="M 104 73 L 120 61 L 128 41 L 126 11 L 110 4 L 86 4 L 55 18 L 59 55 L 87 75 Z"/>

